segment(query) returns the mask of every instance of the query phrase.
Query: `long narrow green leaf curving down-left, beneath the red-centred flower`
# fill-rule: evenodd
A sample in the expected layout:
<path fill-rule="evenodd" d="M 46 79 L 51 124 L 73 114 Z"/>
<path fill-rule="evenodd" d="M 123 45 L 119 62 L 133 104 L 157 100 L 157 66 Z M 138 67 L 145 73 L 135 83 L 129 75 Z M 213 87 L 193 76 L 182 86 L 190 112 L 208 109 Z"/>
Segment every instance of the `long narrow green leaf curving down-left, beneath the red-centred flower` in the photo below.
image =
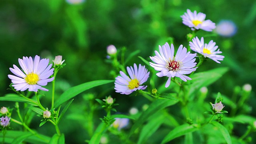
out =
<path fill-rule="evenodd" d="M 163 108 L 166 108 L 167 106 L 174 105 L 177 102 L 178 102 L 178 100 L 169 100 L 166 98 L 158 98 L 157 100 L 152 102 L 150 104 L 150 106 L 148 107 L 148 109 L 146 111 L 144 111 L 140 115 L 138 120 L 134 123 L 134 125 L 131 128 L 129 136 L 131 136 L 134 133 L 134 131 L 137 128 L 139 128 L 148 119 L 149 116 L 151 116 L 152 114 L 154 114 L 156 112 L 159 112 L 160 110 L 162 110 Z"/>

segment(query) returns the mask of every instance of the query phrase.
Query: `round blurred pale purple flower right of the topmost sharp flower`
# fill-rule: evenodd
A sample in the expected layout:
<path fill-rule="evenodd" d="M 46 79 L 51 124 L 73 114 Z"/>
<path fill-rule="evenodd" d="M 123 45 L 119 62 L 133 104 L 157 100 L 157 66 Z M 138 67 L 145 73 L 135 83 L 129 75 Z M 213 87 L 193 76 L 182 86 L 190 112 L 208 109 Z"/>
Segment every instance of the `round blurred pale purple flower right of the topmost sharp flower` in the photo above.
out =
<path fill-rule="evenodd" d="M 231 37 L 236 34 L 236 24 L 231 20 L 222 20 L 216 25 L 216 32 L 220 36 Z"/>

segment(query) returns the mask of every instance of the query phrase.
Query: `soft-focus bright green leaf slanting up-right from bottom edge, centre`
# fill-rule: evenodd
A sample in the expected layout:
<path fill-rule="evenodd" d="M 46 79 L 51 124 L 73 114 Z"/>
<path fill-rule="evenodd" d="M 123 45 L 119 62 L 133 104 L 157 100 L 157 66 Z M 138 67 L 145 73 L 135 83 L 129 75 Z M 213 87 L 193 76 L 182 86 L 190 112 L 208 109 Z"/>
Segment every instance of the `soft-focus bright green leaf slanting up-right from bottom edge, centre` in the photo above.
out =
<path fill-rule="evenodd" d="M 142 144 L 147 141 L 154 132 L 162 125 L 165 116 L 162 113 L 156 113 L 155 118 L 151 119 L 141 130 L 137 144 Z"/>

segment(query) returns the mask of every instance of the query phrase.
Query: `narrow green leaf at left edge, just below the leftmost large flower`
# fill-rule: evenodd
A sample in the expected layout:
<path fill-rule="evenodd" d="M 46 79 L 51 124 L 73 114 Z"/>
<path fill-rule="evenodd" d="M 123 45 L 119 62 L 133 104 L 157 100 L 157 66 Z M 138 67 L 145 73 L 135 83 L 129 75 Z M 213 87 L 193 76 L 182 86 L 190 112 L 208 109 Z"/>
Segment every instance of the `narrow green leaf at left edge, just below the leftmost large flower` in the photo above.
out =
<path fill-rule="evenodd" d="M 10 101 L 10 102 L 25 102 L 27 104 L 30 104 L 32 106 L 38 106 L 37 102 L 30 98 L 23 98 L 21 96 L 18 96 L 17 94 L 6 94 L 3 97 L 0 97 L 0 101 Z"/>

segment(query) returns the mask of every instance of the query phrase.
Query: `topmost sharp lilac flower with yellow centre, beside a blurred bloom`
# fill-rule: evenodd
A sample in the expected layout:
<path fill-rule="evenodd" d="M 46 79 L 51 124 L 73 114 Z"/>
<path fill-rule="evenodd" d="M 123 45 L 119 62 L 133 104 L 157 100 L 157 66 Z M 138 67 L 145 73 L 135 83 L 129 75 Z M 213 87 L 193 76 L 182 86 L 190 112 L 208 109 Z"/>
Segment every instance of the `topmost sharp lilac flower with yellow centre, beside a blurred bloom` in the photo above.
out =
<path fill-rule="evenodd" d="M 196 10 L 192 13 L 191 10 L 187 9 L 187 13 L 181 16 L 182 23 L 186 26 L 190 27 L 191 30 L 202 29 L 208 32 L 211 32 L 214 28 L 216 28 L 215 23 L 211 20 L 204 20 L 206 14 L 202 12 L 196 13 Z"/>

